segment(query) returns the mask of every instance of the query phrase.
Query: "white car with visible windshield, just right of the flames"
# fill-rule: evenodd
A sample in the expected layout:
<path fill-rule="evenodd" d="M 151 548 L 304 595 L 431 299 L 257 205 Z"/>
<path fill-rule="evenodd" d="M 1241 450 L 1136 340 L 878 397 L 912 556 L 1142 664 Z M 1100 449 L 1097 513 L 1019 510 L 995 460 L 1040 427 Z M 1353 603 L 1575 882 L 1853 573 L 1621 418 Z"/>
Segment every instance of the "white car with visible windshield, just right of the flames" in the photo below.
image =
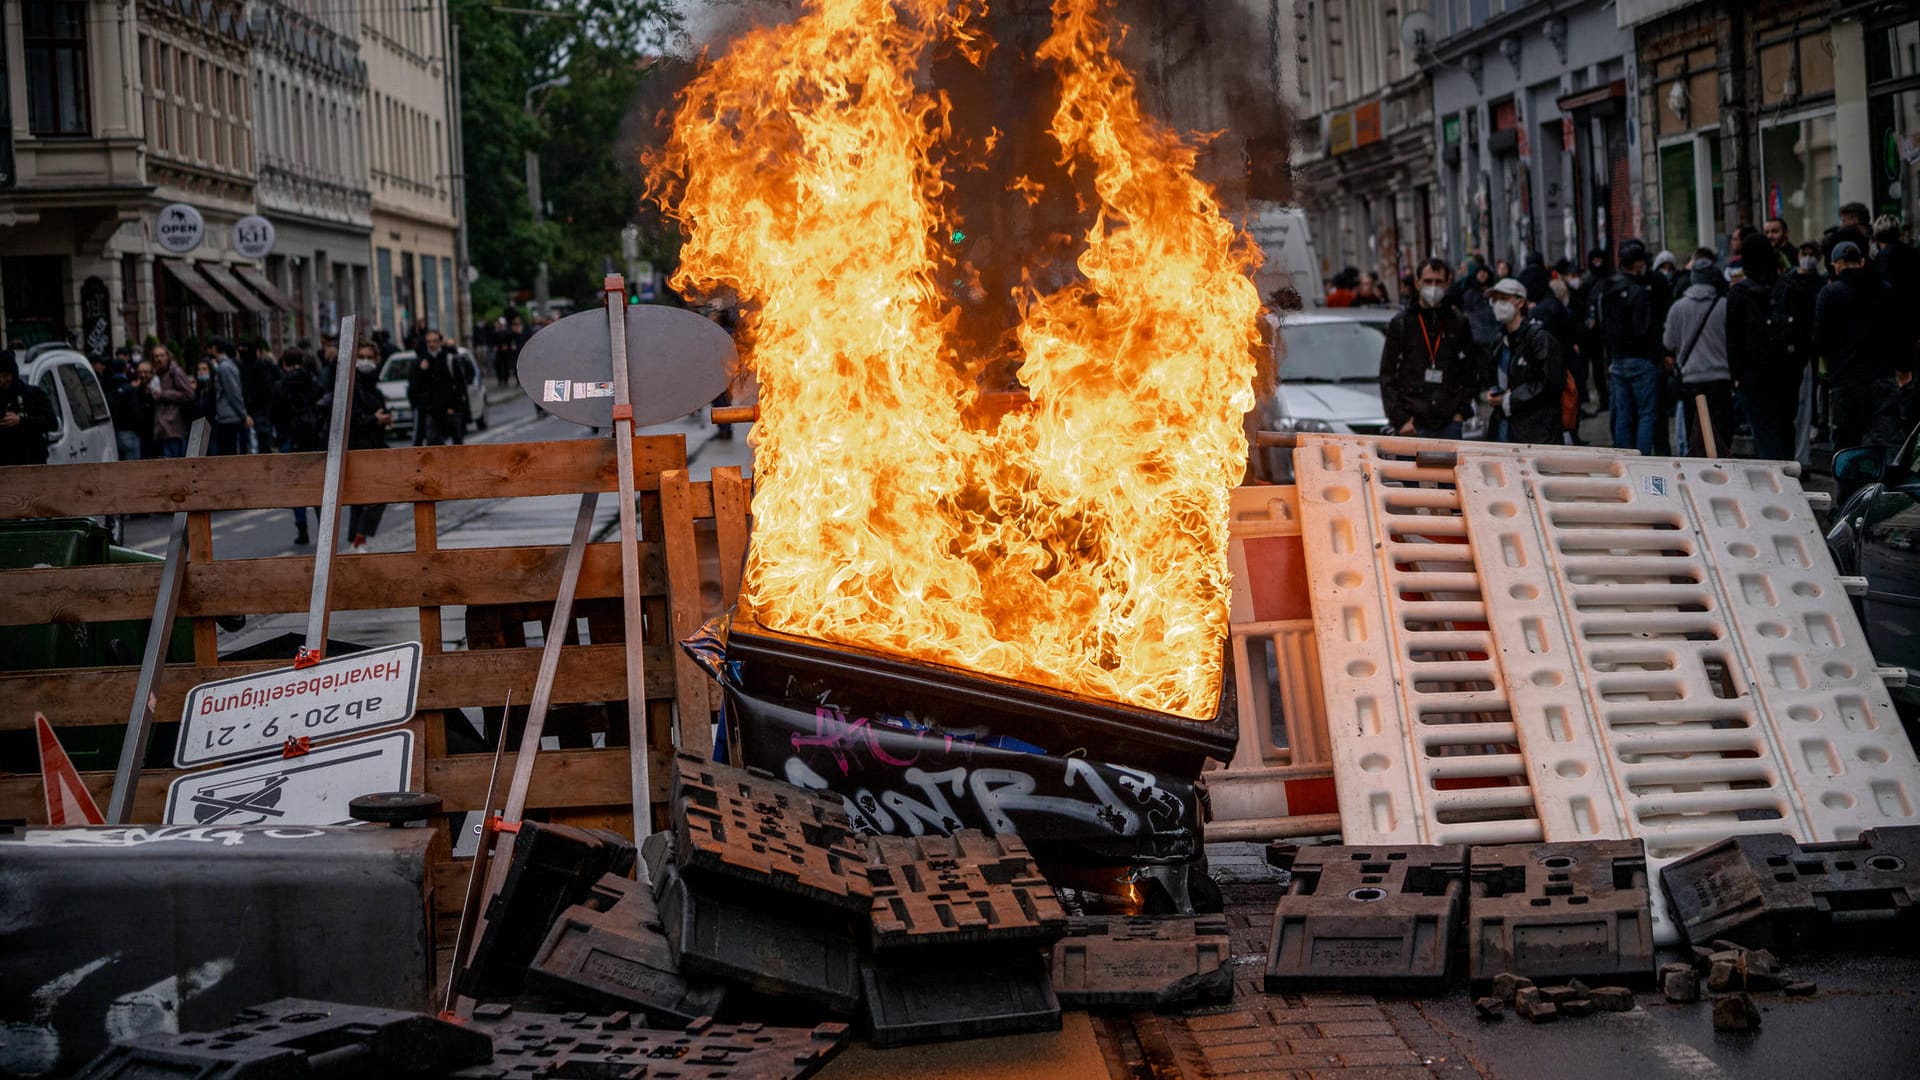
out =
<path fill-rule="evenodd" d="M 1279 388 L 1254 405 L 1254 427 L 1279 432 L 1384 434 L 1380 350 L 1392 307 L 1296 311 L 1281 321 Z M 1256 450 L 1254 477 L 1286 482 L 1286 450 Z"/>

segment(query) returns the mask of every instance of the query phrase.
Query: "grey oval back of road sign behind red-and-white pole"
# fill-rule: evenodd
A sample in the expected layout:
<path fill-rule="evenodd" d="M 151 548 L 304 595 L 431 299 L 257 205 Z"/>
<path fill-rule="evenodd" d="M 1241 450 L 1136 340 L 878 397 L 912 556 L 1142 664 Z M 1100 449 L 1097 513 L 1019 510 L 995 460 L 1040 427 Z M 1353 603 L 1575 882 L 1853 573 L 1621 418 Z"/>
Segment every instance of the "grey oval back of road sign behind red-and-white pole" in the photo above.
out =
<path fill-rule="evenodd" d="M 732 334 L 684 307 L 639 304 L 624 311 L 634 427 L 680 419 L 726 390 Z M 526 340 L 520 386 L 563 421 L 612 427 L 611 350 L 607 311 L 576 311 Z"/>

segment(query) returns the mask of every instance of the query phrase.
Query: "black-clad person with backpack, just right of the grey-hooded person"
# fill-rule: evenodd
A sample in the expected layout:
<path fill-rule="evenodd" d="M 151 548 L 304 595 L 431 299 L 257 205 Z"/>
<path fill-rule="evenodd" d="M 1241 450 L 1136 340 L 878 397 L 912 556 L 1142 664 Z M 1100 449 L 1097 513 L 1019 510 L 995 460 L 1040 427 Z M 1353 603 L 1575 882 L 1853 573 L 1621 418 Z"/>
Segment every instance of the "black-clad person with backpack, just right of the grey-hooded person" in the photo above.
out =
<path fill-rule="evenodd" d="M 1740 242 L 1745 277 L 1726 290 L 1726 363 L 1740 411 L 1753 429 L 1753 454 L 1766 461 L 1793 459 L 1793 421 L 1807 354 L 1793 348 L 1786 321 L 1776 325 L 1778 256 L 1763 233 Z"/>

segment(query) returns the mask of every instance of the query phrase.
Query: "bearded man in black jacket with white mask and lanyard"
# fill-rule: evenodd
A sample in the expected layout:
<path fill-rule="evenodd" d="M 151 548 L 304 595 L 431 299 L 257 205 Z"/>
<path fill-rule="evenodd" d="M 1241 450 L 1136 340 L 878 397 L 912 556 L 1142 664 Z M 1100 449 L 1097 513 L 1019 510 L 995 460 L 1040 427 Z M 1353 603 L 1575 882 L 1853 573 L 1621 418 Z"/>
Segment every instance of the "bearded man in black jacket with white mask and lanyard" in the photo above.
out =
<path fill-rule="evenodd" d="M 1446 300 L 1448 265 L 1427 259 L 1419 298 L 1386 323 L 1380 404 L 1398 434 L 1459 438 L 1478 386 L 1473 329 Z"/>

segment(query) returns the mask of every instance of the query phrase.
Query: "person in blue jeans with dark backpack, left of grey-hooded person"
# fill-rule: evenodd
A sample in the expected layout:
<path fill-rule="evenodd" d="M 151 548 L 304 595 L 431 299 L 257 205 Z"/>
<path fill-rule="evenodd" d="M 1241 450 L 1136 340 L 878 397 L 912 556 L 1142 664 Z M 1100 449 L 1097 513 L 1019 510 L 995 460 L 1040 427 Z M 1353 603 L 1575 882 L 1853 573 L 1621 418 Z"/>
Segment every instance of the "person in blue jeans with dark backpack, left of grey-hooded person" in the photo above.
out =
<path fill-rule="evenodd" d="M 1596 321 L 1607 346 L 1607 396 L 1613 404 L 1613 446 L 1653 454 L 1661 423 L 1661 331 L 1667 306 L 1647 271 L 1647 246 L 1620 244 L 1620 269 L 1599 284 Z"/>

